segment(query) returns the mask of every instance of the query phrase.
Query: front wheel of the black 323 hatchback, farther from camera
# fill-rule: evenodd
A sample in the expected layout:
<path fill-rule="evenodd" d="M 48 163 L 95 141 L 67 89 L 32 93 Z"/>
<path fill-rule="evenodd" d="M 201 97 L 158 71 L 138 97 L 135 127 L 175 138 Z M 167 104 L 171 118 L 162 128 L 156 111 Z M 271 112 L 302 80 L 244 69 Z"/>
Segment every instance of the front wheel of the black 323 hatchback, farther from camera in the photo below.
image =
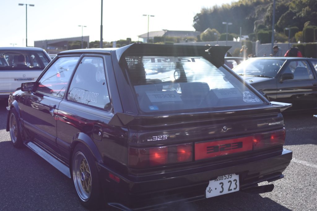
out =
<path fill-rule="evenodd" d="M 16 109 L 12 108 L 9 112 L 9 131 L 11 143 L 16 148 L 22 148 L 24 146 L 19 125 L 19 116 Z"/>

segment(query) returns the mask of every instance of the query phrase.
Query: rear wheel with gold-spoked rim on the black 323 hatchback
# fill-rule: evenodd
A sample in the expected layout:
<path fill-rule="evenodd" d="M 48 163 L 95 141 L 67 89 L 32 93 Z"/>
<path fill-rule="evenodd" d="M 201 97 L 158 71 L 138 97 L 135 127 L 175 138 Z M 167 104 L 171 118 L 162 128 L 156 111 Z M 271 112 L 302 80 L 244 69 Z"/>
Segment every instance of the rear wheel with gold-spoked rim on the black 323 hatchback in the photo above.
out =
<path fill-rule="evenodd" d="M 72 177 L 81 204 L 88 209 L 101 208 L 102 191 L 92 153 L 81 143 L 72 156 Z"/>

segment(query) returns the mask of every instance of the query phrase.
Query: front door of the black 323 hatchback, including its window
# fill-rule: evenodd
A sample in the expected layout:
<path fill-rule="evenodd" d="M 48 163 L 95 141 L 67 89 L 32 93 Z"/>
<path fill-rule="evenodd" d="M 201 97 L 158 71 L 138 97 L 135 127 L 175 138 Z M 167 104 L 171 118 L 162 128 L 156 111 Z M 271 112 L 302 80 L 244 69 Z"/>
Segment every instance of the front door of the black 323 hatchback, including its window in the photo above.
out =
<path fill-rule="evenodd" d="M 34 92 L 23 96 L 22 118 L 32 141 L 57 153 L 56 114 L 79 57 L 61 57 L 41 74 Z"/>

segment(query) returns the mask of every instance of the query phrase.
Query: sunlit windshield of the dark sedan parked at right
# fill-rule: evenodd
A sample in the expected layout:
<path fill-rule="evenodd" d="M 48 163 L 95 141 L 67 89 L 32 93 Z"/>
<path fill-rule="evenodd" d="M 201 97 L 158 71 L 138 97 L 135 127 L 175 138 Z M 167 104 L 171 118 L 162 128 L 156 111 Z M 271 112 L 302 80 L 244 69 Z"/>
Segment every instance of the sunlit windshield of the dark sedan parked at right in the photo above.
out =
<path fill-rule="evenodd" d="M 274 78 L 284 62 L 282 59 L 248 59 L 233 71 L 239 75 Z"/>

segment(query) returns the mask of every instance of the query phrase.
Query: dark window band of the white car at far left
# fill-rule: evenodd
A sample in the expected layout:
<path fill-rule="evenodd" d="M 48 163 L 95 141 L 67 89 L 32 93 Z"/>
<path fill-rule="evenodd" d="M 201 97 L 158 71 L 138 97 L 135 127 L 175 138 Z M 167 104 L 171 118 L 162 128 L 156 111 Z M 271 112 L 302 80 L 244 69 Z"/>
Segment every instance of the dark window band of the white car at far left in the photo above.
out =
<path fill-rule="evenodd" d="M 42 51 L 0 51 L 1 70 L 43 70 L 51 59 Z"/>

